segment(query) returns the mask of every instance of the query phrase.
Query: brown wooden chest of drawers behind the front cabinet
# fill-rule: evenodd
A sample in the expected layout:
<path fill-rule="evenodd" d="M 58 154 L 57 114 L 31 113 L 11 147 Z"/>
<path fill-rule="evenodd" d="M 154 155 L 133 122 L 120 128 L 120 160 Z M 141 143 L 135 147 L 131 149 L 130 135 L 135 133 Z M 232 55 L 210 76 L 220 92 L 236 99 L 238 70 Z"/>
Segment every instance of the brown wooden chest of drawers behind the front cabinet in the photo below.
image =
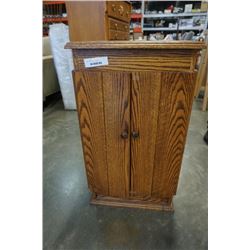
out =
<path fill-rule="evenodd" d="M 131 4 L 67 1 L 70 41 L 128 40 Z"/>

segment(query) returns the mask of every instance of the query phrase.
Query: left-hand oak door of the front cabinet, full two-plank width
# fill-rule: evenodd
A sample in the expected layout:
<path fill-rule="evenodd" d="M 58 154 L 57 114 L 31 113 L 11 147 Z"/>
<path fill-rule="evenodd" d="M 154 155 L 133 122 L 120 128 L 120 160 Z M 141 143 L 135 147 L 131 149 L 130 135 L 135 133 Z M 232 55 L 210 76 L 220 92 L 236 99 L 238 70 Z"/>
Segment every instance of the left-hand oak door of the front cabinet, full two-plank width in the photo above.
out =
<path fill-rule="evenodd" d="M 74 86 L 89 188 L 128 197 L 130 74 L 75 71 Z"/>

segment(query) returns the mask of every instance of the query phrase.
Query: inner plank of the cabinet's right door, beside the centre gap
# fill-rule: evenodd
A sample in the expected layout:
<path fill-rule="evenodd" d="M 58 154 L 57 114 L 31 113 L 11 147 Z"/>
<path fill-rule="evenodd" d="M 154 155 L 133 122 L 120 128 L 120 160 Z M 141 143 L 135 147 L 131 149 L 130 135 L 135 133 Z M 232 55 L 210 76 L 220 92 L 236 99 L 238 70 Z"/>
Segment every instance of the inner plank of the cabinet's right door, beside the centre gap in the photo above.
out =
<path fill-rule="evenodd" d="M 131 195 L 150 197 L 154 169 L 157 120 L 161 91 L 161 73 L 132 73 L 131 131 Z"/>

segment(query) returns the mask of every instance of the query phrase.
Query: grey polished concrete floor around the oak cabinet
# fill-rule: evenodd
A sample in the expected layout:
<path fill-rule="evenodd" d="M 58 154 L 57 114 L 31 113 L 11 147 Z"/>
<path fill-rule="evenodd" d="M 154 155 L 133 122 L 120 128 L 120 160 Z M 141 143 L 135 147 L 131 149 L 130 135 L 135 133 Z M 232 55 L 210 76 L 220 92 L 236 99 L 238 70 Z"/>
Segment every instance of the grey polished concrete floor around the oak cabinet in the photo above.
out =
<path fill-rule="evenodd" d="M 193 106 L 174 213 L 89 205 L 76 111 L 44 110 L 43 249 L 207 249 L 207 112 Z"/>

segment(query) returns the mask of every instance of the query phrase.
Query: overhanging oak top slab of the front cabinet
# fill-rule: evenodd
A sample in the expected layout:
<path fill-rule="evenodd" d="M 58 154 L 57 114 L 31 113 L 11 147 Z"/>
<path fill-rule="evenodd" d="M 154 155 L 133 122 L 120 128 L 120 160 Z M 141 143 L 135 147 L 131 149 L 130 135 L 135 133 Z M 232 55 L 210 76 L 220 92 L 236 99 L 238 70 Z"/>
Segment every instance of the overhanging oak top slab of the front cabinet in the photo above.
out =
<path fill-rule="evenodd" d="M 206 48 L 204 42 L 194 41 L 87 41 L 69 42 L 65 49 L 194 49 Z"/>

